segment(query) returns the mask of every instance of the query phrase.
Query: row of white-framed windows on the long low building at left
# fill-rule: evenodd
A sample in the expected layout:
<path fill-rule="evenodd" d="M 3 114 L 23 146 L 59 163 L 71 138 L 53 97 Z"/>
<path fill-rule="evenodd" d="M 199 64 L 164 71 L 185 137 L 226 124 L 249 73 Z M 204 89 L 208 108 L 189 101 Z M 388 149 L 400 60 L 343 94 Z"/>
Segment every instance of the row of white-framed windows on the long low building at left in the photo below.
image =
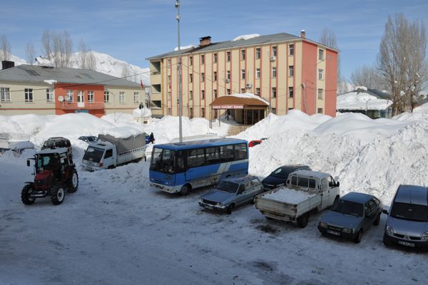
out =
<path fill-rule="evenodd" d="M 94 103 L 94 92 L 93 91 L 86 91 L 86 96 L 88 103 Z M 11 102 L 11 93 L 9 88 L 1 87 L 0 88 L 0 97 L 1 102 Z M 76 102 L 83 103 L 85 98 L 85 91 L 78 90 L 76 93 Z M 125 103 L 125 92 L 119 92 L 119 103 Z M 34 90 L 32 88 L 25 88 L 24 89 L 24 100 L 25 102 L 34 102 Z M 54 102 L 55 101 L 55 89 L 54 88 L 46 88 L 46 102 Z M 74 92 L 73 90 L 67 90 L 66 91 L 66 101 L 67 102 L 74 102 Z M 140 93 L 134 92 L 133 93 L 133 102 L 139 103 L 140 100 Z M 110 102 L 110 92 L 104 91 L 104 103 Z"/>

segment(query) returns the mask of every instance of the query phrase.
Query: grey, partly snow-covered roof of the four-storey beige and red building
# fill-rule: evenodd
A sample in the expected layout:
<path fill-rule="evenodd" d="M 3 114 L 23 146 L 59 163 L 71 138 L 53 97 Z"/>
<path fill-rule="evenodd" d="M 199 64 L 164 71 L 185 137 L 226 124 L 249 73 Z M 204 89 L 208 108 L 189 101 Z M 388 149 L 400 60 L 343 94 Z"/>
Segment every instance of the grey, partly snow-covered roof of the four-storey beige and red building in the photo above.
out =
<path fill-rule="evenodd" d="M 240 46 L 255 46 L 255 45 L 263 45 L 267 43 L 279 43 L 283 41 L 292 41 L 300 38 L 300 36 L 294 36 L 290 33 L 274 33 L 272 35 L 265 36 L 257 36 L 254 38 L 242 39 L 238 41 L 220 41 L 218 43 L 211 43 L 208 46 L 198 46 L 196 48 L 186 48 L 180 51 L 181 54 L 185 53 L 193 53 L 193 52 L 207 52 L 207 51 L 218 51 L 222 49 L 228 48 L 238 48 Z M 310 41 L 305 38 L 306 41 Z M 329 47 L 330 48 L 330 47 Z M 332 48 L 336 51 L 335 48 Z M 159 54 L 158 56 L 152 56 L 150 58 L 146 58 L 146 60 L 150 61 L 153 59 L 166 58 L 170 56 L 177 56 L 178 51 L 170 51 L 168 53 Z"/>

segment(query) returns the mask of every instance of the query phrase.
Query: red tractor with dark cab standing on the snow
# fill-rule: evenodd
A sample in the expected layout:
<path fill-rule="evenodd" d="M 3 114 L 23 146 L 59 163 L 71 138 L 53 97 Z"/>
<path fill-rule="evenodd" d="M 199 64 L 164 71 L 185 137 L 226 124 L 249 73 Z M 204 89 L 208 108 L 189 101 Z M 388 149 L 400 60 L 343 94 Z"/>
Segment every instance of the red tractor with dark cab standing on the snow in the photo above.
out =
<path fill-rule="evenodd" d="M 66 147 L 46 149 L 36 152 L 34 182 L 26 182 L 21 192 L 21 200 L 24 204 L 33 204 L 36 198 L 50 196 L 52 204 L 61 204 L 65 192 L 77 191 L 78 175 L 76 167 L 71 160 L 71 155 Z"/>

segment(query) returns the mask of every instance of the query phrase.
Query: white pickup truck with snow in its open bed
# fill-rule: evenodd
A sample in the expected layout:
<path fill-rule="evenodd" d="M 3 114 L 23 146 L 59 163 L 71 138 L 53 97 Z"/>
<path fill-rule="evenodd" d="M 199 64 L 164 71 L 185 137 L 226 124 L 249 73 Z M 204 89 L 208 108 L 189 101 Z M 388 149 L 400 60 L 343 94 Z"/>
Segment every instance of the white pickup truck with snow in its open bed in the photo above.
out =
<path fill-rule="evenodd" d="M 303 228 L 312 210 L 330 207 L 339 197 L 339 182 L 330 174 L 297 170 L 285 186 L 256 196 L 255 207 L 268 219 L 297 222 Z"/>

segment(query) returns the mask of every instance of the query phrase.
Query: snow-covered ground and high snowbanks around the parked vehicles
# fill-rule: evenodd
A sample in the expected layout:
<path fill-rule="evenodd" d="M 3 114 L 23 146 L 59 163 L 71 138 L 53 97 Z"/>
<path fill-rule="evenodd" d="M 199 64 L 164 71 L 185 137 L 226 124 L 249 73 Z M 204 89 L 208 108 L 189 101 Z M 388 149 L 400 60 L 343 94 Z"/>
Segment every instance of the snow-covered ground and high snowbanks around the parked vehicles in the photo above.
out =
<path fill-rule="evenodd" d="M 331 119 L 292 112 L 268 118 L 238 135 L 269 138 L 250 149 L 250 173 L 264 177 L 287 163 L 307 163 L 338 176 L 341 193 L 376 195 L 389 205 L 400 183 L 424 185 L 428 178 L 427 116 L 370 120 L 360 114 Z M 80 135 L 108 133 L 116 127 L 173 140 L 177 119 L 149 127 L 84 114 L 0 116 L 0 130 L 31 135 L 37 144 L 53 135 L 71 138 L 76 162 L 86 146 Z M 218 133 L 206 120 L 183 122 L 185 135 Z M 60 126 L 60 127 L 58 127 Z M 148 162 L 114 170 L 83 172 L 76 193 L 60 206 L 39 199 L 21 203 L 32 179 L 26 158 L 0 157 L 0 284 L 426 284 L 427 254 L 384 247 L 379 227 L 361 244 L 321 237 L 310 217 L 305 229 L 267 222 L 252 205 L 231 215 L 198 206 L 197 198 L 168 195 L 148 187 Z M 78 163 L 79 164 L 79 163 Z"/>

